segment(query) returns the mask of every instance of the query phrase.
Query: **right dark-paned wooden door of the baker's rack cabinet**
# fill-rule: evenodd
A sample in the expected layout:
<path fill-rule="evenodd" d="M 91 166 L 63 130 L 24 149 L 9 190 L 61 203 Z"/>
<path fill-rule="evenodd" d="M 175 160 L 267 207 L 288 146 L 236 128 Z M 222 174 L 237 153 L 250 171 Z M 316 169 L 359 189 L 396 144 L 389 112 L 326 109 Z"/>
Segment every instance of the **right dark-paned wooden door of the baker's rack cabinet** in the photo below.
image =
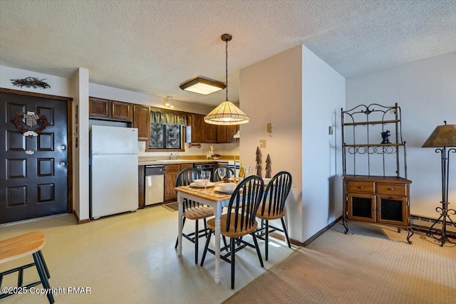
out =
<path fill-rule="evenodd" d="M 377 222 L 408 226 L 407 199 L 402 196 L 377 196 Z"/>

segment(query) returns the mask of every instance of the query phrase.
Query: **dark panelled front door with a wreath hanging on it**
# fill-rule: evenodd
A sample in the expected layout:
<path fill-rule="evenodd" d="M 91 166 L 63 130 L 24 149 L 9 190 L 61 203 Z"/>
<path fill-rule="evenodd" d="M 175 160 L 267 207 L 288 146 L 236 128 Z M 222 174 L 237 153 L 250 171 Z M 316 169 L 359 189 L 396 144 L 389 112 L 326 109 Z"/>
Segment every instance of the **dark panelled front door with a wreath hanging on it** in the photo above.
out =
<path fill-rule="evenodd" d="M 1 92 L 0 108 L 0 223 L 66 213 L 67 101 Z M 48 125 L 24 136 L 13 122 L 17 112 L 45 115 Z M 40 122 L 22 127 L 36 130 Z"/>

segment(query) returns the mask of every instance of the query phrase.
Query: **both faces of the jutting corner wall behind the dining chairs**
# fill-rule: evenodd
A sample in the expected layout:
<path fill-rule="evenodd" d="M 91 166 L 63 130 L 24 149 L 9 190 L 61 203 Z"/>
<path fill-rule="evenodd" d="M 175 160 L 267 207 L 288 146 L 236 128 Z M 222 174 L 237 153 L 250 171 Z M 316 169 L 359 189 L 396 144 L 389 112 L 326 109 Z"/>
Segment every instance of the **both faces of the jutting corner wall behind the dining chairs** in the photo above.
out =
<path fill-rule="evenodd" d="M 344 79 L 304 46 L 250 65 L 239 76 L 241 109 L 250 116 L 241 125 L 241 159 L 253 166 L 259 140 L 266 140 L 263 162 L 269 154 L 273 175 L 285 170 L 293 177 L 286 203 L 290 237 L 306 241 L 342 214 L 340 187 L 334 186 L 335 194 L 329 191 L 341 165 L 336 164 L 340 147 L 334 147 L 336 137 L 328 135 L 328 127 L 337 125 Z"/>

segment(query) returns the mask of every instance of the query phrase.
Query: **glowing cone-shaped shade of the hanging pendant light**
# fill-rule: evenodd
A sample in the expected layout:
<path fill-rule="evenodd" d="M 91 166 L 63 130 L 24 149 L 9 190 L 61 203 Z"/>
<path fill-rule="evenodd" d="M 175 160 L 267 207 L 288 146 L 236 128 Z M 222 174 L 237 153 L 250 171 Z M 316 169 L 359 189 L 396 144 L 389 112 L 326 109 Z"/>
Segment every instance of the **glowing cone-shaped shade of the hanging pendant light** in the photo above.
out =
<path fill-rule="evenodd" d="M 204 122 L 211 125 L 242 125 L 249 120 L 249 116 L 228 100 L 204 116 Z"/>

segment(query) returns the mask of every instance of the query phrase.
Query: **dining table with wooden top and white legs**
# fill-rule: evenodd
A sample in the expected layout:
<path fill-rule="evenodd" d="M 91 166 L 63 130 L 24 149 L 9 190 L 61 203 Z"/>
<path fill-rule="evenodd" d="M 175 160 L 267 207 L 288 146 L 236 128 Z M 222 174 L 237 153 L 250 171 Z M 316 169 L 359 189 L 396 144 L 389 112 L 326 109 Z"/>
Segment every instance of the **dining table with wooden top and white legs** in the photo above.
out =
<path fill-rule="evenodd" d="M 212 206 L 214 208 L 215 217 L 215 283 L 220 283 L 220 216 L 222 215 L 222 208 L 229 204 L 232 194 L 225 194 L 222 192 L 215 191 L 218 183 L 215 183 L 214 187 L 207 187 L 207 189 L 191 187 L 191 186 L 180 186 L 176 187 L 177 201 L 179 202 L 179 234 L 177 239 L 177 255 L 182 256 L 182 204 L 184 199 L 190 199 L 197 201 L 199 204 Z"/>

